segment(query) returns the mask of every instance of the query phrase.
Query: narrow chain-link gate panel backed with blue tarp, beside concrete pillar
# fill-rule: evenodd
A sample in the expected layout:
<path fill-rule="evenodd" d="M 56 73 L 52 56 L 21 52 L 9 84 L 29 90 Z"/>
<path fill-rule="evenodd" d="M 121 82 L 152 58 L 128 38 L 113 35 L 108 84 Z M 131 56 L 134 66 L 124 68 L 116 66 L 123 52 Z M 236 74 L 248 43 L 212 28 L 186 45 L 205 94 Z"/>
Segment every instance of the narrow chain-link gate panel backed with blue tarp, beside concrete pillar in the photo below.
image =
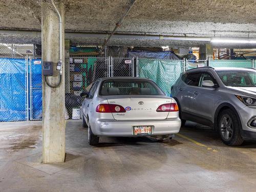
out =
<path fill-rule="evenodd" d="M 40 58 L 29 59 L 30 120 L 42 119 L 42 67 Z"/>

